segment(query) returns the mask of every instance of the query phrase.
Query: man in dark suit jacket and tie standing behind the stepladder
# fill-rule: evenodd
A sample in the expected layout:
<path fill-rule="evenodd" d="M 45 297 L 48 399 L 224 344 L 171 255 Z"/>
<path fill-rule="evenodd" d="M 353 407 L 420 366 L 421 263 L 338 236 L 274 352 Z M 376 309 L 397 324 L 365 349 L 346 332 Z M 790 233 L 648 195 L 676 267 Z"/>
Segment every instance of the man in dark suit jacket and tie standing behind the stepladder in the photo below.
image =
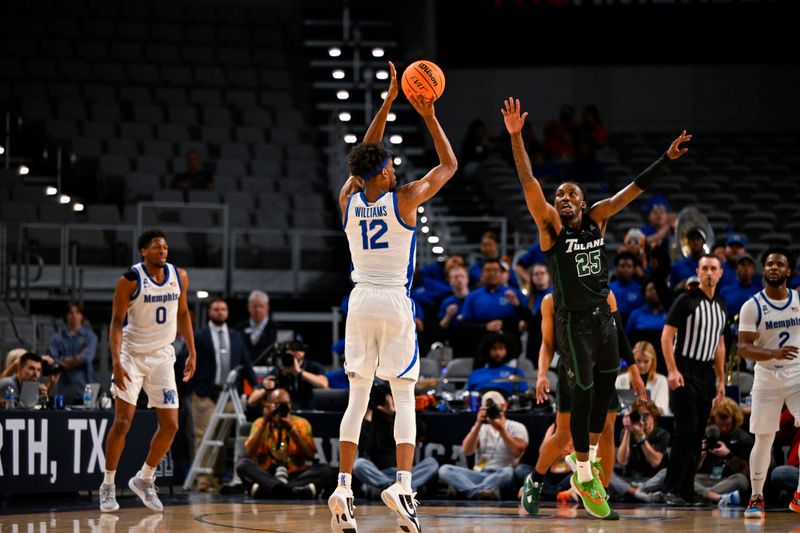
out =
<path fill-rule="evenodd" d="M 215 298 L 208 304 L 208 324 L 195 332 L 194 345 L 197 353 L 197 372 L 191 381 L 194 391 L 192 400 L 192 420 L 194 421 L 194 446 L 200 449 L 200 443 L 211 416 L 216 409 L 217 398 L 225 386 L 228 374 L 238 366 L 242 366 L 238 383 L 238 392 L 242 392 L 242 378 L 251 386 L 257 385 L 256 375 L 250 362 L 250 352 L 244 342 L 244 335 L 229 328 L 228 304 L 222 298 Z M 232 411 L 229 406 L 227 411 Z M 224 439 L 227 435 L 216 435 L 215 439 Z M 220 457 L 223 454 L 219 454 Z M 208 465 L 207 465 L 208 466 Z M 214 466 L 220 465 L 212 465 Z M 197 490 L 205 492 L 211 488 L 219 488 L 219 481 L 208 474 L 198 474 Z"/>

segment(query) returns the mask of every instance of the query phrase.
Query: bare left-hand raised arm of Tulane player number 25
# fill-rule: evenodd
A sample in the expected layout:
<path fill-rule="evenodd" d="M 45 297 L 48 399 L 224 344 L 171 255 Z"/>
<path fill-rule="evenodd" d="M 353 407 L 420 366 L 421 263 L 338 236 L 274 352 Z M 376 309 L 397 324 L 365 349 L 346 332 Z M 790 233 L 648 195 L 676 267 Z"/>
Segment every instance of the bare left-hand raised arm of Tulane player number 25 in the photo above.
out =
<path fill-rule="evenodd" d="M 542 186 L 533 175 L 531 160 L 525 150 L 525 143 L 522 140 L 522 126 L 528 113 L 521 113 L 519 99 L 509 98 L 504 103 L 504 108 L 500 110 L 503 114 L 503 122 L 506 130 L 511 136 L 511 149 L 514 152 L 514 165 L 517 167 L 517 177 L 522 184 L 522 192 L 525 194 L 525 203 L 528 206 L 536 226 L 539 228 L 539 242 L 542 248 L 549 249 L 555 237 L 561 231 L 561 219 L 558 217 L 555 208 L 547 202 L 544 197 Z"/>

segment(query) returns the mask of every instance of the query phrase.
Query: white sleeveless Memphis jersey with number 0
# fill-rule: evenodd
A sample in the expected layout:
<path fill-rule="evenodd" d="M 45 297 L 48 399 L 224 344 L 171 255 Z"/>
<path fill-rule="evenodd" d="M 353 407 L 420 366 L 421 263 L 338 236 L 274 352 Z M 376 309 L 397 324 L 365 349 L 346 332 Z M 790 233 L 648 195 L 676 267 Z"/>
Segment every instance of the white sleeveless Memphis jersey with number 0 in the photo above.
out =
<path fill-rule="evenodd" d="M 160 285 L 147 273 L 144 263 L 133 265 L 131 270 L 138 277 L 138 287 L 128 304 L 122 347 L 126 353 L 150 354 L 175 340 L 181 280 L 178 269 L 170 263 L 164 268 Z"/>

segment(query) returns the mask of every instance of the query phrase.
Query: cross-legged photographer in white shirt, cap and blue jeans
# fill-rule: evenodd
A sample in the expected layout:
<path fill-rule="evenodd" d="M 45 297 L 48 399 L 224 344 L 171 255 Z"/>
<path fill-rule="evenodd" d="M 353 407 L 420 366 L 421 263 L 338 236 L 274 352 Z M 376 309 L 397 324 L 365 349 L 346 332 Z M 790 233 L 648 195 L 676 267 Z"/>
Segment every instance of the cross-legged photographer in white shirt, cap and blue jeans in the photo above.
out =
<path fill-rule="evenodd" d="M 467 498 L 499 500 L 501 491 L 513 488 L 514 467 L 528 447 L 528 430 L 506 419 L 507 407 L 498 391 L 485 393 L 475 425 L 461 443 L 466 457 L 477 452 L 475 467 L 439 468 L 439 479 Z"/>

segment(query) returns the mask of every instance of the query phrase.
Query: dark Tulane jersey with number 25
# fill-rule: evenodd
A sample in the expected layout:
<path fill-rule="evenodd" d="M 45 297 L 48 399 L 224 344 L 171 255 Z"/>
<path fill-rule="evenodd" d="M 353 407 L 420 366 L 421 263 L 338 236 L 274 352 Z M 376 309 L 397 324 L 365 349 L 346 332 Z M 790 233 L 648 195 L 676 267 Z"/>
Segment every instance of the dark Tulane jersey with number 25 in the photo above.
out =
<path fill-rule="evenodd" d="M 608 258 L 600 228 L 586 214 L 579 230 L 566 225 L 552 248 L 544 252 L 553 280 L 553 302 L 558 309 L 582 312 L 606 304 Z"/>

